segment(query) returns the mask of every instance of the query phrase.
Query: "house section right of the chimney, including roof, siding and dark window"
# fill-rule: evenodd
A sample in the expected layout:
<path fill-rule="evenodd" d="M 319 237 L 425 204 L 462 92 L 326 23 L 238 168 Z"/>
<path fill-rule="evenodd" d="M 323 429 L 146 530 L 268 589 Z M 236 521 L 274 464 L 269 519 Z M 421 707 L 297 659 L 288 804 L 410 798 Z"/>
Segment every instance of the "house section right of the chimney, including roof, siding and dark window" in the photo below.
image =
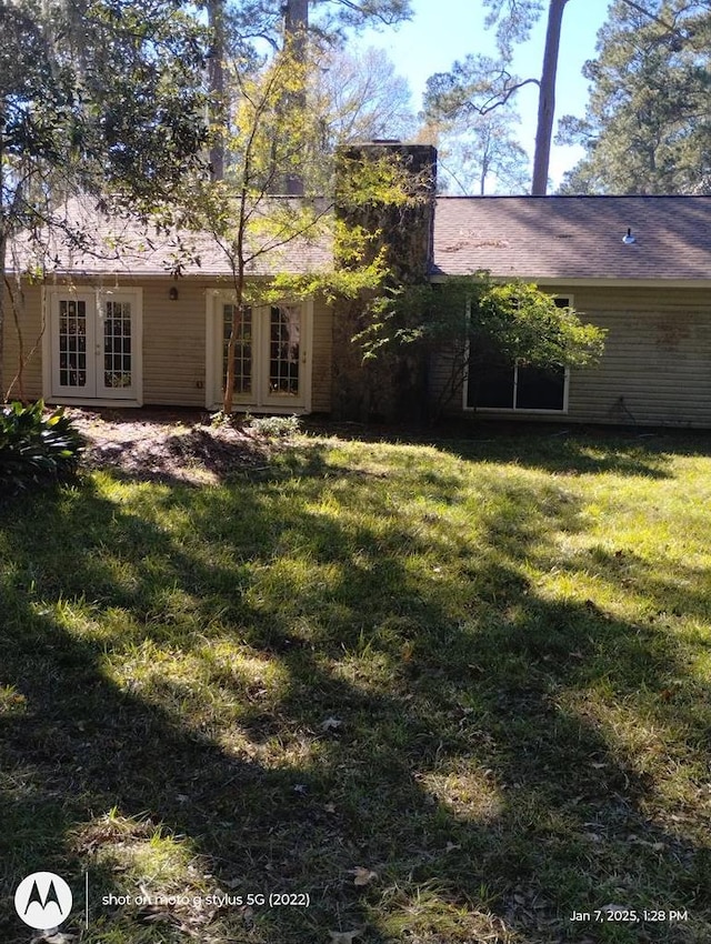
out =
<path fill-rule="evenodd" d="M 599 365 L 469 376 L 450 412 L 711 426 L 711 197 L 445 197 L 433 235 L 432 279 L 535 282 L 608 330 Z"/>

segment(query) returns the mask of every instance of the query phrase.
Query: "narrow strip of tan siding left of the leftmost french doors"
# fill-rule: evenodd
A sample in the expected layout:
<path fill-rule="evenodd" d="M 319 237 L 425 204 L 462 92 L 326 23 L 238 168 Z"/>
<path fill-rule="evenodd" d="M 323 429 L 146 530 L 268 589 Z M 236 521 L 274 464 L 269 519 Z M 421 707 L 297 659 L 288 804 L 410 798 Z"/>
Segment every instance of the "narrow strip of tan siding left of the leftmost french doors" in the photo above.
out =
<path fill-rule="evenodd" d="M 24 358 L 22 370 L 22 393 L 28 400 L 39 400 L 42 395 L 42 291 L 40 285 L 26 285 L 20 301 L 20 334 L 14 322 L 12 307 L 6 290 L 2 395 L 8 392 L 20 369 L 20 351 Z M 9 390 L 10 398 L 20 395 L 18 382 Z"/>

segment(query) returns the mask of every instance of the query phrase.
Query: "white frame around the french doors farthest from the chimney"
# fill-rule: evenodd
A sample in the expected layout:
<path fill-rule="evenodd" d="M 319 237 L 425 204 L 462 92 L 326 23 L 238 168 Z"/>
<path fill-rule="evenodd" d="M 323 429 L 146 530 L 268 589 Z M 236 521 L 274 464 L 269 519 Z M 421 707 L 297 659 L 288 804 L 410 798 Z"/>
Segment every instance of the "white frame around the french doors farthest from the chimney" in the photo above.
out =
<path fill-rule="evenodd" d="M 67 386 L 61 383 L 59 356 L 59 305 L 63 300 L 86 303 L 87 383 Z M 104 356 L 111 354 L 103 331 L 108 302 L 131 303 L 131 384 L 106 385 Z M 57 285 L 46 288 L 42 298 L 44 331 L 42 337 L 42 390 L 49 403 L 91 404 L 97 406 L 140 406 L 143 402 L 143 291 L 136 288 Z"/>

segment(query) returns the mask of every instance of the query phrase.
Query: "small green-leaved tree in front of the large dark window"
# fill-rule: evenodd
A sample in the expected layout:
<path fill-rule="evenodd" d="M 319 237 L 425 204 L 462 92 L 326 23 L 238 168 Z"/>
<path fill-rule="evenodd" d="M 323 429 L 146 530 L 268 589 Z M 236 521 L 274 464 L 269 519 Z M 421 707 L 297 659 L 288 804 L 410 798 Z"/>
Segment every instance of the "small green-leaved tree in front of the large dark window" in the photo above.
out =
<path fill-rule="evenodd" d="M 451 400 L 468 369 L 482 364 L 584 368 L 602 354 L 605 331 L 582 322 L 533 284 L 497 283 L 485 272 L 440 284 L 394 289 L 374 299 L 356 339 L 365 360 L 402 345 L 444 351 L 451 373 L 439 409 Z"/>

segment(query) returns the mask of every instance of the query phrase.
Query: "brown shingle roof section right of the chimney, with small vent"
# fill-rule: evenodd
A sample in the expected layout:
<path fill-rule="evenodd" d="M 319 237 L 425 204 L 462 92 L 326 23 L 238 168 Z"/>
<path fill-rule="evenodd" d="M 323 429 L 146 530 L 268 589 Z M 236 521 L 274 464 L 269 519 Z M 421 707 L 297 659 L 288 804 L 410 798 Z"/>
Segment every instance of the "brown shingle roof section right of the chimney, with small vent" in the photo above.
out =
<path fill-rule="evenodd" d="M 532 280 L 711 279 L 711 197 L 439 198 L 433 274 L 482 269 Z"/>

